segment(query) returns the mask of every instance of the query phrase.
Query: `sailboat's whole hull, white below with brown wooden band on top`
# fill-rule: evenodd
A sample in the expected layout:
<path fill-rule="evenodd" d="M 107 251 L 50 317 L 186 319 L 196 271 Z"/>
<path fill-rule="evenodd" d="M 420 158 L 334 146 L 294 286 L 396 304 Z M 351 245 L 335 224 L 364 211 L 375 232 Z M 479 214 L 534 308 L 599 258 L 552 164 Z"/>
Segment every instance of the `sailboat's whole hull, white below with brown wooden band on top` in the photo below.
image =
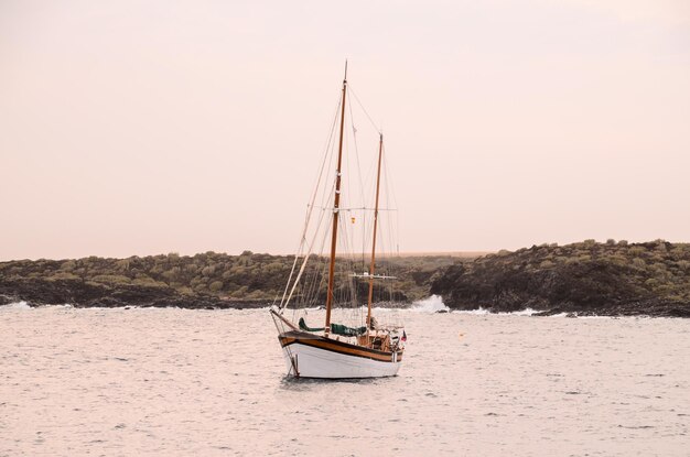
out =
<path fill-rule="evenodd" d="M 304 331 L 285 331 L 278 339 L 288 373 L 300 378 L 385 378 L 398 373 L 402 350 L 368 349 Z"/>

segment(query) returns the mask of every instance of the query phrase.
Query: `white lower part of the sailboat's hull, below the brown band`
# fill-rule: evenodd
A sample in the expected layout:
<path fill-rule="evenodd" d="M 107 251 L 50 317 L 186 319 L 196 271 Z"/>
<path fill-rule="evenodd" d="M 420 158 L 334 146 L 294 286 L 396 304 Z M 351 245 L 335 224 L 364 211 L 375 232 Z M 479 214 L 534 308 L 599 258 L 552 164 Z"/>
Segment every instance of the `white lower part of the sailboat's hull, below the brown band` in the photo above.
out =
<path fill-rule="evenodd" d="M 300 378 L 385 378 L 396 376 L 402 364 L 402 361 L 384 362 L 299 344 L 285 346 L 282 351 L 288 373 Z"/>

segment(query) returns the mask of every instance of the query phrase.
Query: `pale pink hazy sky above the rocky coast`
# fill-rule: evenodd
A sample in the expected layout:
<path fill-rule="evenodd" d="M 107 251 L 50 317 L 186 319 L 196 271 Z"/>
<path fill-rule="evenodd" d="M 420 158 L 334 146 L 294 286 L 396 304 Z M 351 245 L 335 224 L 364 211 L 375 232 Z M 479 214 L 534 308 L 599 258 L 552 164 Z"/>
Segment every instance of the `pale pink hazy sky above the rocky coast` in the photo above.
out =
<path fill-rule="evenodd" d="M 686 0 L 0 0 L 0 260 L 291 253 L 346 58 L 401 251 L 690 241 Z"/>

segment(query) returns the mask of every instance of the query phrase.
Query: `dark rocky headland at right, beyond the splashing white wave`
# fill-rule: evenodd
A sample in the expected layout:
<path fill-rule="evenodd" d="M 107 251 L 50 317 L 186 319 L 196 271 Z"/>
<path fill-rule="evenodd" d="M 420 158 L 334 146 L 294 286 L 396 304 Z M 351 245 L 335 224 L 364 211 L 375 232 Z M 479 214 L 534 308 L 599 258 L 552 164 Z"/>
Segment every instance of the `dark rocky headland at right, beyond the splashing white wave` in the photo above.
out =
<path fill-rule="evenodd" d="M 454 309 L 690 317 L 690 244 L 594 240 L 449 266 L 430 292 Z"/>

